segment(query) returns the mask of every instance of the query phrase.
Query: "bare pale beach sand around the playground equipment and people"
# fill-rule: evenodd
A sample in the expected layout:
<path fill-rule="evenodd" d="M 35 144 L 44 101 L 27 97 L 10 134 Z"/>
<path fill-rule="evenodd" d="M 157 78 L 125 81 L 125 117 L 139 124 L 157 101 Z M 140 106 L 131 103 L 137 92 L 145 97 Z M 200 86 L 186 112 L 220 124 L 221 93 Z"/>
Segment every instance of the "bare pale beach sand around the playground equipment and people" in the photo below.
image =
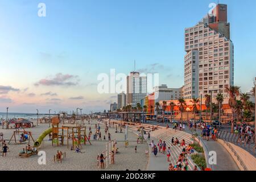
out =
<path fill-rule="evenodd" d="M 86 133 L 89 133 L 89 125 L 86 123 Z M 90 123 L 92 127 L 92 133 L 95 132 L 95 124 L 97 122 L 94 121 Z M 34 121 L 34 125 L 36 122 Z M 7 146 L 9 147 L 9 152 L 7 152 L 6 157 L 0 156 L 0 170 L 49 170 L 49 171 L 63 171 L 63 170 L 102 170 L 97 167 L 97 155 L 101 151 L 104 151 L 106 148 L 106 140 L 103 140 L 105 135 L 105 124 L 101 123 L 101 134 L 102 140 L 93 140 L 91 137 L 91 143 L 82 144 L 81 151 L 82 154 L 77 154 L 75 151 L 71 151 L 64 146 L 52 146 L 52 142 L 49 140 L 47 136 L 44 138 L 44 146 L 39 148 L 39 151 L 46 152 L 46 165 L 39 165 L 38 158 L 39 156 L 34 155 L 30 156 L 30 158 L 20 158 L 19 151 L 22 151 L 22 148 L 25 148 L 28 142 L 23 144 L 15 144 L 14 139 L 11 140 L 11 143 L 8 144 L 11 135 L 13 134 L 14 129 L 0 129 L 0 133 L 4 134 L 4 139 L 6 139 Z M 34 140 L 38 138 L 38 136 L 46 129 L 49 128 L 49 124 L 41 123 L 39 126 L 33 127 L 31 129 L 26 129 L 26 131 L 32 132 L 32 137 Z M 148 162 L 148 156 L 145 154 L 145 151 L 148 150 L 147 143 L 137 144 L 137 135 L 129 131 L 129 146 L 125 148 L 125 142 L 123 142 L 125 138 L 125 129 L 123 129 L 123 133 L 115 133 L 115 128 L 112 126 L 109 129 L 111 134 L 111 138 L 117 140 L 118 154 L 115 154 L 115 164 L 110 165 L 105 170 L 145 170 Z M 118 130 L 119 131 L 119 130 Z M 19 137 L 16 135 L 17 138 Z M 108 136 L 106 136 L 106 139 Z M 18 139 L 17 139 L 17 142 Z M 31 146 L 33 146 L 33 142 L 31 139 Z M 137 154 L 135 154 L 135 146 L 137 146 Z M 66 158 L 62 163 L 53 162 L 53 156 L 56 155 L 57 150 L 63 151 L 66 154 Z M 1 153 L 2 155 L 2 153 Z"/>

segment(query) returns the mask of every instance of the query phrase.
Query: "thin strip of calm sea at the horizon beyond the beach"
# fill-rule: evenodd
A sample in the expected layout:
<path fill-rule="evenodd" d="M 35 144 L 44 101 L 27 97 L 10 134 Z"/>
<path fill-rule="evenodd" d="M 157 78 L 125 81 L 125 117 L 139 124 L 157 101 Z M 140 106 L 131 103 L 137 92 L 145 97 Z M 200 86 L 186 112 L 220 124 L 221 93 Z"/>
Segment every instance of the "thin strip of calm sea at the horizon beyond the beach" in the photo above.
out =
<path fill-rule="evenodd" d="M 40 117 L 47 117 L 48 114 L 39 114 Z M 24 119 L 35 119 L 38 117 L 36 113 L 8 113 L 8 119 L 12 118 L 24 118 Z M 0 119 L 6 119 L 6 113 L 0 113 Z"/>

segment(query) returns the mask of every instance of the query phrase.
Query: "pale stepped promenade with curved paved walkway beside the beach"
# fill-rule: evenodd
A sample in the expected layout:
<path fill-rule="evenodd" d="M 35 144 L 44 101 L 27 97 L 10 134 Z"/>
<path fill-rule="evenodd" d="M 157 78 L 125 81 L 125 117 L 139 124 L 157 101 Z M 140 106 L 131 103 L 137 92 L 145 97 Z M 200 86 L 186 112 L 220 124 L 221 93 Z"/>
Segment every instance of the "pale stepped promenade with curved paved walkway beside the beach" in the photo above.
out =
<path fill-rule="evenodd" d="M 142 124 L 145 125 L 145 124 Z M 172 127 L 170 129 L 166 129 L 166 124 L 158 123 L 158 122 L 147 122 L 146 125 L 159 125 L 159 130 L 151 131 L 151 140 L 154 140 L 154 143 L 157 144 L 159 139 L 162 139 L 167 143 L 167 147 L 171 146 L 171 138 L 178 138 L 180 141 L 185 139 L 186 143 L 192 143 L 192 132 L 186 127 L 185 131 L 173 130 Z M 170 123 L 169 123 L 170 126 Z M 130 129 L 133 129 L 133 126 L 129 126 Z M 137 127 L 134 127 L 134 131 L 137 131 Z M 197 131 L 197 134 L 200 136 L 201 130 Z M 150 144 L 151 140 L 148 140 L 148 144 Z M 205 153 L 209 154 L 209 151 L 215 151 L 217 154 L 217 164 L 212 164 L 210 167 L 213 171 L 239 171 L 236 162 L 229 154 L 229 152 L 219 143 L 210 139 L 209 141 L 203 140 L 200 138 L 200 142 L 204 146 Z M 150 148 L 150 146 L 149 146 Z M 162 171 L 168 170 L 168 165 L 170 163 L 175 164 L 179 154 L 181 153 L 182 147 L 172 146 L 171 147 L 171 162 L 167 162 L 167 156 L 163 154 L 159 154 L 155 157 L 154 154 L 149 152 L 149 162 L 148 162 L 148 170 L 152 171 Z M 151 151 L 151 150 L 149 150 Z M 189 171 L 193 169 L 195 164 L 193 163 L 191 157 L 188 155 L 188 163 L 189 163 Z"/>

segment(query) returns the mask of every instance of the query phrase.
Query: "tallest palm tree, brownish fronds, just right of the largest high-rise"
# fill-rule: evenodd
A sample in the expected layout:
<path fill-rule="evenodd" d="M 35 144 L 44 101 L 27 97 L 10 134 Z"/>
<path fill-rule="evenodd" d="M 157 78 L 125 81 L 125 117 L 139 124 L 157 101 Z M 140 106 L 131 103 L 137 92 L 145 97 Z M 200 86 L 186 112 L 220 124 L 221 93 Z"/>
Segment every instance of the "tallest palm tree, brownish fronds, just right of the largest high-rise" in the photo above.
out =
<path fill-rule="evenodd" d="M 239 86 L 230 86 L 229 88 L 226 87 L 226 90 L 229 93 L 229 106 L 232 109 L 233 119 L 231 122 L 231 132 L 234 131 L 234 114 L 237 104 L 237 97 L 240 95 L 240 87 Z"/>

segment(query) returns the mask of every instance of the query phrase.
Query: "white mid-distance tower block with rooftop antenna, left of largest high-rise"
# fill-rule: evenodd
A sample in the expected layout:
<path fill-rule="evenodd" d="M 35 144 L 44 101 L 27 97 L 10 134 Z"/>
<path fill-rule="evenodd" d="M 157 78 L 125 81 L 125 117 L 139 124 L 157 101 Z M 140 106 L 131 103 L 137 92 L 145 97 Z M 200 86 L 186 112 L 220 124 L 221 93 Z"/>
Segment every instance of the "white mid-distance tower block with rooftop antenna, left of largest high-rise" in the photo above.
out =
<path fill-rule="evenodd" d="M 139 72 L 130 72 L 126 82 L 126 105 L 135 107 L 147 96 L 147 77 L 140 76 Z"/>

